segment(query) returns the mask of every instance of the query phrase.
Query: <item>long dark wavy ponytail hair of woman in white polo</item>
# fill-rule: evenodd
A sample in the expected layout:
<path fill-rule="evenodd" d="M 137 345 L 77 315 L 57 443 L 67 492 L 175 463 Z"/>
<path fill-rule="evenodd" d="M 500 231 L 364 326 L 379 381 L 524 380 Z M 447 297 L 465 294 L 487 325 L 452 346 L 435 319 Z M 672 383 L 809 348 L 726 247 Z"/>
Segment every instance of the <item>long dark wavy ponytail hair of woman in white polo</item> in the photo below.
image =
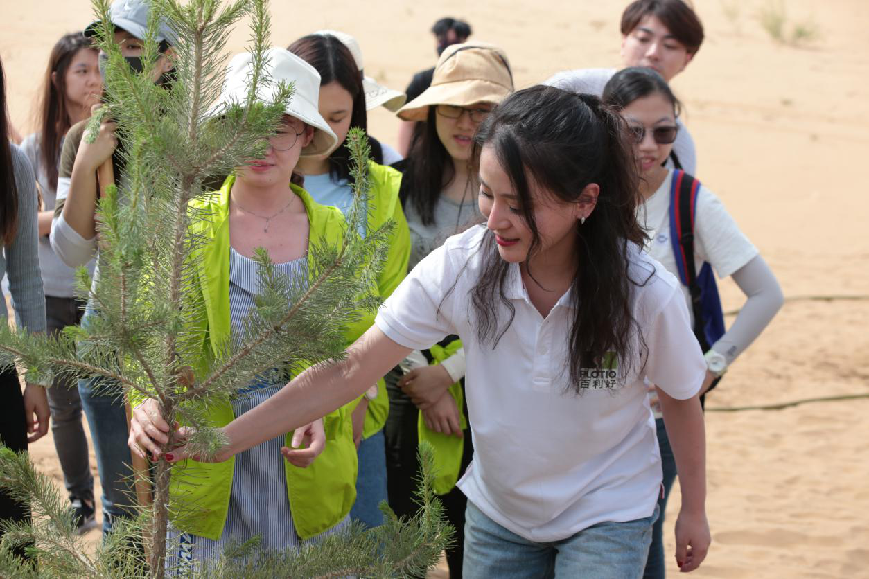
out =
<path fill-rule="evenodd" d="M 645 348 L 630 306 L 634 286 L 648 278 L 632 278 L 628 255 L 646 240 L 636 219 L 638 175 L 628 138 L 620 115 L 596 96 L 548 86 L 507 96 L 474 137 L 474 157 L 479 159 L 482 148 L 492 148 L 513 184 L 533 235 L 525 261 L 532 278 L 534 255 L 541 245 L 532 187 L 567 203 L 583 201 L 582 191 L 590 183 L 600 187 L 594 212 L 585 224 L 576 223 L 577 267 L 571 293 L 575 316 L 566 365 L 577 393 L 581 371 L 600 368 L 610 352 L 620 359 L 619 370 L 627 373 L 634 354 L 640 353 L 632 351 L 634 335 Z M 478 338 L 494 348 L 515 315 L 504 293 L 510 267 L 501 259 L 491 231 L 484 235 L 480 251 L 482 271 L 470 299 Z M 501 320 L 505 310 L 506 323 Z"/>

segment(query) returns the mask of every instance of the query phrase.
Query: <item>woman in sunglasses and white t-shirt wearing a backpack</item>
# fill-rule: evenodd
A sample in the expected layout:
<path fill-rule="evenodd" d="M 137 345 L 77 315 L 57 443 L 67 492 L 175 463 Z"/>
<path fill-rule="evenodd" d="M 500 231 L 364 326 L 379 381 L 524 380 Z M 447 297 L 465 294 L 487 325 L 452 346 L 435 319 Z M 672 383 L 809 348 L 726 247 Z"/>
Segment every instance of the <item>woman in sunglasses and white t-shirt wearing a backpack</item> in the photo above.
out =
<path fill-rule="evenodd" d="M 638 208 L 637 218 L 640 224 L 645 223 L 650 239 L 648 252 L 678 277 L 676 257 L 670 241 L 673 170 L 665 167 L 664 161 L 673 150 L 673 142 L 679 134 L 679 102 L 662 76 L 653 69 L 640 67 L 617 72 L 607 82 L 603 100 L 620 110 L 627 122 L 627 128 L 634 136 L 634 156 L 641 177 L 640 196 L 644 200 Z M 719 378 L 726 367 L 763 332 L 778 312 L 783 297 L 779 283 L 766 261 L 740 231 L 718 197 L 700 186 L 694 212 L 693 247 L 696 271 L 700 271 L 700 266 L 707 262 L 713 266 L 719 278 L 733 276 L 737 286 L 746 294 L 746 303 L 733 321 L 733 326 L 706 352 L 710 370 L 706 372 L 706 380 L 700 389 L 702 395 L 715 378 Z M 682 293 L 685 294 L 690 310 L 690 294 L 684 285 Z M 658 501 L 660 516 L 653 527 L 646 577 L 663 577 L 665 559 L 661 533 L 667 496 L 677 473 L 660 405 L 657 404 L 651 386 L 650 392 L 664 472 L 664 492 Z"/>

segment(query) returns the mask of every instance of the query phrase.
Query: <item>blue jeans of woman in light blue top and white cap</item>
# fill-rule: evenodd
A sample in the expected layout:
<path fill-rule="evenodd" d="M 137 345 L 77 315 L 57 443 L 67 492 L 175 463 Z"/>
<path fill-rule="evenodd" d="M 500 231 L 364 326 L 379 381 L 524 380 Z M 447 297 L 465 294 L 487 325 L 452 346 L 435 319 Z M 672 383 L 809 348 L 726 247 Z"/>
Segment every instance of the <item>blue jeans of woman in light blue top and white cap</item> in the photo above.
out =
<path fill-rule="evenodd" d="M 387 500 L 386 445 L 383 431 L 377 431 L 359 444 L 359 474 L 356 477 L 356 502 L 350 518 L 367 527 L 383 524 L 381 501 Z"/>

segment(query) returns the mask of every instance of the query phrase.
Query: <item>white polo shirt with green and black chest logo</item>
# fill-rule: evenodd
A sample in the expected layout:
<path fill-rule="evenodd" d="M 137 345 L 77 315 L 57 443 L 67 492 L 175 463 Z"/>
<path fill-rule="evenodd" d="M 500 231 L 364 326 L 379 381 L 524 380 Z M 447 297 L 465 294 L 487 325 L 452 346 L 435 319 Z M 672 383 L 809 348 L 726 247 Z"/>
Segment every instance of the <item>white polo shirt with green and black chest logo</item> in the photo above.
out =
<path fill-rule="evenodd" d="M 576 395 L 565 372 L 574 317 L 569 293 L 543 319 L 513 264 L 505 287 L 513 323 L 494 350 L 477 339 L 468 292 L 481 275 L 485 232 L 472 227 L 429 253 L 375 319 L 390 339 L 410 348 L 461 337 L 474 461 L 459 487 L 496 523 L 535 542 L 650 516 L 661 470 L 643 379 L 684 399 L 706 374 L 678 280 L 639 249 L 631 252 L 632 277 L 648 279 L 632 297 L 647 356 L 618 360 L 621 371 L 630 366 L 627 376 L 590 371 Z M 501 313 L 501 323 L 506 319 Z"/>

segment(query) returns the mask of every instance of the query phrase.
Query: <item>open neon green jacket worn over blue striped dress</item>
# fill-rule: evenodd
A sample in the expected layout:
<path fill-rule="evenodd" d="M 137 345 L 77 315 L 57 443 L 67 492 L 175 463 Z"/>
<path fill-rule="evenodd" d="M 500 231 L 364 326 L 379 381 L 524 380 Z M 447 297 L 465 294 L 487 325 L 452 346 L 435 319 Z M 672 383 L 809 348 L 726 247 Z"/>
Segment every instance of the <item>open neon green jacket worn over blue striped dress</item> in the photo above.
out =
<path fill-rule="evenodd" d="M 229 176 L 220 191 L 209 198 L 191 203 L 204 211 L 209 219 L 196 220 L 194 234 L 211 240 L 203 244 L 194 256 L 202 300 L 207 320 L 199 328 L 202 335 L 202 359 L 214 356 L 222 342 L 229 338 L 229 191 L 235 181 Z M 338 243 L 346 227 L 341 211 L 313 201 L 302 188 L 291 185 L 304 202 L 310 222 L 308 246 L 316 240 Z M 229 404 L 209 409 L 209 419 L 216 426 L 229 424 L 235 418 Z M 347 516 L 356 497 L 356 448 L 353 428 L 346 407 L 323 418 L 327 444 L 322 454 L 307 469 L 296 468 L 284 461 L 287 490 L 292 504 L 295 530 L 302 539 L 322 533 Z M 292 433 L 287 434 L 289 446 Z M 229 492 L 235 458 L 218 464 L 187 461 L 173 471 L 170 490 L 173 523 L 179 530 L 219 539 L 229 510 Z M 181 509 L 176 509 L 177 505 Z M 189 508 L 193 506 L 193 508 Z M 188 507 L 184 509 L 183 507 Z"/>

